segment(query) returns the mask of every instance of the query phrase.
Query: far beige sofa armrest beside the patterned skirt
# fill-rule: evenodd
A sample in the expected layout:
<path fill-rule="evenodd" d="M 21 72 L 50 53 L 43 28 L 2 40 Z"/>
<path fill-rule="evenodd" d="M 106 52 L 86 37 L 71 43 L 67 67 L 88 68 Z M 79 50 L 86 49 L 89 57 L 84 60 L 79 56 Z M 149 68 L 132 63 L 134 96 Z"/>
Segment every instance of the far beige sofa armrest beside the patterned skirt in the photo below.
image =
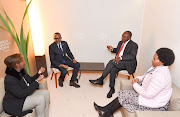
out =
<path fill-rule="evenodd" d="M 131 80 L 120 80 L 120 90 L 131 90 L 133 86 Z"/>

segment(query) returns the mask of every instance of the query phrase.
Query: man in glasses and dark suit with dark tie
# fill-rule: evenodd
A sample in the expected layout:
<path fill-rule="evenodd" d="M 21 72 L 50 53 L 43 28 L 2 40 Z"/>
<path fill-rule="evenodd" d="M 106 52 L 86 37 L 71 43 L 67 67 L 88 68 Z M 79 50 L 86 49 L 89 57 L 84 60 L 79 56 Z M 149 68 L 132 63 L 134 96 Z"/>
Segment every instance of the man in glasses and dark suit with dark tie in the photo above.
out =
<path fill-rule="evenodd" d="M 74 69 L 69 85 L 79 88 L 80 86 L 76 81 L 80 64 L 74 59 L 74 56 L 71 53 L 67 42 L 62 41 L 60 33 L 57 32 L 54 34 L 54 41 L 55 42 L 49 46 L 49 55 L 51 67 L 57 68 L 61 71 L 61 75 L 59 77 L 59 86 L 63 87 L 64 78 L 68 73 L 67 68 L 72 67 Z M 68 56 L 66 56 L 66 54 Z"/>

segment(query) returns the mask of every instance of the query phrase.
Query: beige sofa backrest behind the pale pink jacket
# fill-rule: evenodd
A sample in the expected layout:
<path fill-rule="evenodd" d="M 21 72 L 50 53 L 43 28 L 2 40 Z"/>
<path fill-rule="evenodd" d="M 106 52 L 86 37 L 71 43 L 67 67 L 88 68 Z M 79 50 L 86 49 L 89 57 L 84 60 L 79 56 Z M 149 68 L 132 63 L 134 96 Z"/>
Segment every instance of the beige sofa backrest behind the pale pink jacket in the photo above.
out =
<path fill-rule="evenodd" d="M 180 111 L 180 88 L 172 84 L 173 92 L 170 99 L 169 111 Z"/>

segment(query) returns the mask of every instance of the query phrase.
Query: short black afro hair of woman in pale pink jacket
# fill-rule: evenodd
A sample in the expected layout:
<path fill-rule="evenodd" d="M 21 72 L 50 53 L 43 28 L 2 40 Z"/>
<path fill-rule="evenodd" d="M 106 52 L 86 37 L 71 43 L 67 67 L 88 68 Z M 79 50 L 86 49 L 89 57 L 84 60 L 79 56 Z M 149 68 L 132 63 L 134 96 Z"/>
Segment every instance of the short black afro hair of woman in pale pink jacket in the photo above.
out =
<path fill-rule="evenodd" d="M 156 51 L 159 60 L 164 66 L 170 66 L 175 60 L 174 52 L 169 48 L 160 48 Z"/>

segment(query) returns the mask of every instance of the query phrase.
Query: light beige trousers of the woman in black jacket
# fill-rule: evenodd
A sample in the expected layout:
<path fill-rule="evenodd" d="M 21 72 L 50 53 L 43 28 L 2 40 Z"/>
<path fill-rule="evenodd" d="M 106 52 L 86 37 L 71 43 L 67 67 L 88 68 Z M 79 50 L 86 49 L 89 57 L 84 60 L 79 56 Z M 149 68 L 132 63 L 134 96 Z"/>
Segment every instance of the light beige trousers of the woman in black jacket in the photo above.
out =
<path fill-rule="evenodd" d="M 26 97 L 23 111 L 35 108 L 36 117 L 49 117 L 49 91 L 36 90 Z"/>

